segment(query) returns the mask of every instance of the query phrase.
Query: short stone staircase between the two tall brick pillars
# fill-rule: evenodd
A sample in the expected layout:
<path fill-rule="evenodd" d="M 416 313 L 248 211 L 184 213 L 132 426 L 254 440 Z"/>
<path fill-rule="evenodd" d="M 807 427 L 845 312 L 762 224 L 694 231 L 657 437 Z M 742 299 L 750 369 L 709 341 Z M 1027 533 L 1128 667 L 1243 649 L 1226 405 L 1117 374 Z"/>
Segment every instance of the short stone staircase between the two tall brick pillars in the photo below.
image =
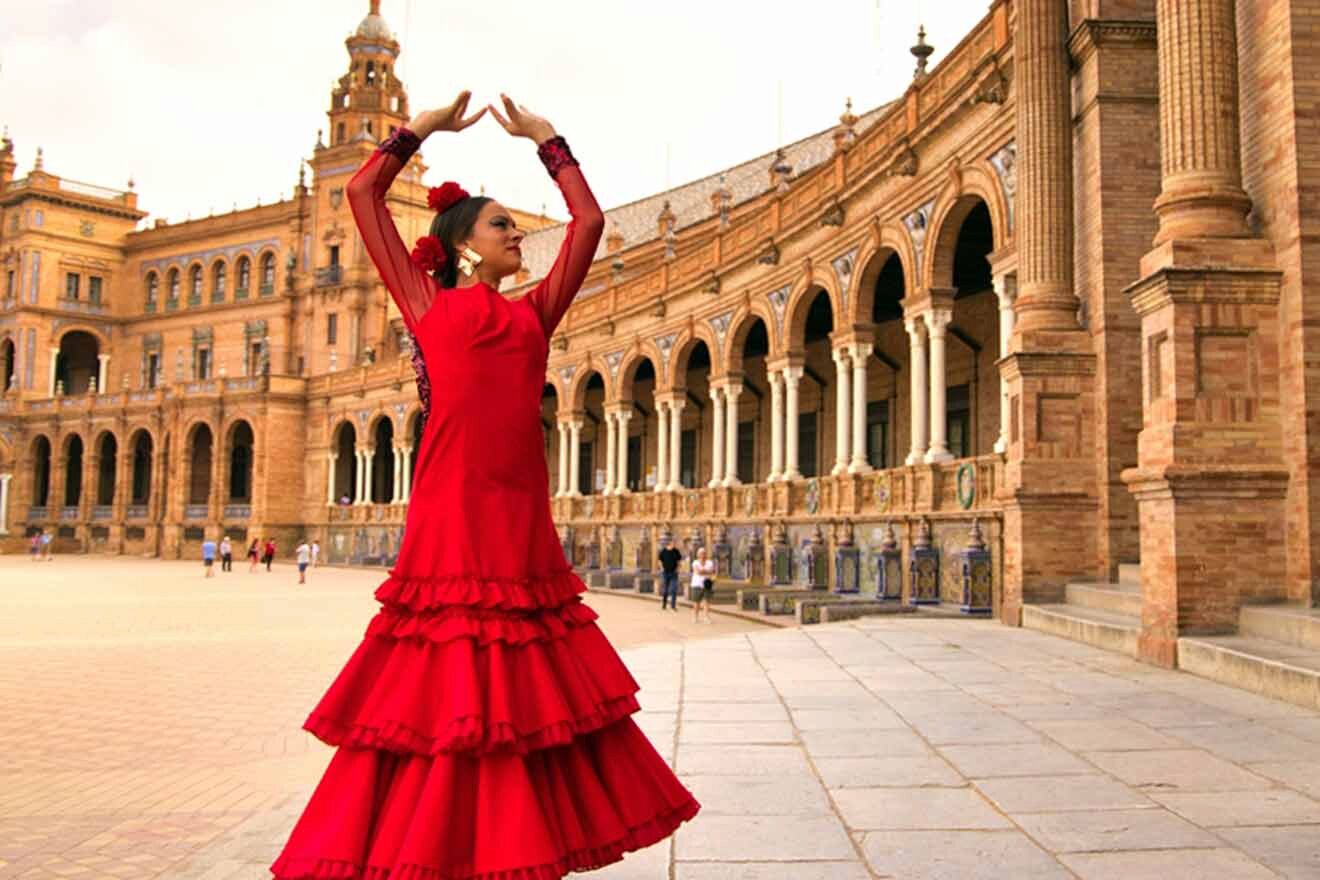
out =
<path fill-rule="evenodd" d="M 1142 621 L 1140 566 L 1118 566 L 1117 583 L 1069 583 L 1064 602 L 1023 606 L 1022 625 L 1129 657 Z"/>

